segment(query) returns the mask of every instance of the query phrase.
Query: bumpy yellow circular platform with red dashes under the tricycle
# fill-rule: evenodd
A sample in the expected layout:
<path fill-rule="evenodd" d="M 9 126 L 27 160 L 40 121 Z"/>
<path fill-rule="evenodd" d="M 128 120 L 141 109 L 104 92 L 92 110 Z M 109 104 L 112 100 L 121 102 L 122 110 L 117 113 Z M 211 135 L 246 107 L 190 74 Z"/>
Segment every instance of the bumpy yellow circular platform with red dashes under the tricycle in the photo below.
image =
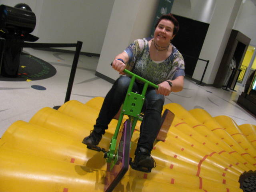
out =
<path fill-rule="evenodd" d="M 103 98 L 82 104 L 66 102 L 58 110 L 42 108 L 29 122 L 14 122 L 0 139 L 0 192 L 91 192 L 104 190 L 106 161 L 88 150 Z M 240 175 L 256 168 L 256 126 L 238 126 L 228 116 L 212 117 L 202 109 L 187 111 L 167 104 L 175 114 L 164 142 L 156 141 L 156 168 L 129 168 L 116 192 L 242 192 Z M 117 120 L 99 146 L 107 149 Z M 132 136 L 134 158 L 140 123 Z"/>

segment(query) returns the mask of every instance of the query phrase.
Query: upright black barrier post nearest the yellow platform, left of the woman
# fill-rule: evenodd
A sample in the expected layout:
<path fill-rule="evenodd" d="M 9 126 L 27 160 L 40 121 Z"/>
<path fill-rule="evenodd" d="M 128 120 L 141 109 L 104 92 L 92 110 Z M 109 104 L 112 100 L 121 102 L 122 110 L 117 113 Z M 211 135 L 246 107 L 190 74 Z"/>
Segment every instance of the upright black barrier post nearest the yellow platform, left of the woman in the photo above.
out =
<path fill-rule="evenodd" d="M 76 67 L 78 64 L 78 59 L 79 59 L 80 50 L 82 48 L 82 44 L 83 44 L 83 42 L 81 42 L 81 41 L 78 41 L 76 44 L 76 53 L 74 56 L 74 60 L 73 60 L 73 64 L 72 64 L 72 68 L 71 68 L 71 72 L 70 72 L 70 77 L 69 77 L 69 81 L 68 81 L 68 88 L 67 88 L 67 92 L 66 92 L 65 103 L 70 100 L 70 95 L 71 95 L 71 91 L 72 91 L 72 87 L 73 87 L 73 83 L 74 83 Z"/>

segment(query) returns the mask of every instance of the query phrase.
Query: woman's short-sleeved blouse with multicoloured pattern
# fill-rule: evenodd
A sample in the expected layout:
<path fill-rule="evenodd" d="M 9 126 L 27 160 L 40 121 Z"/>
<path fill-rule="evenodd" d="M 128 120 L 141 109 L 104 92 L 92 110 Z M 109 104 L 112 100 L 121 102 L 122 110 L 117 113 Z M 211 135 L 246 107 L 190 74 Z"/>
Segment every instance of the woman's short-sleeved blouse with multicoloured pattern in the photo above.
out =
<path fill-rule="evenodd" d="M 166 60 L 153 61 L 149 55 L 149 40 L 137 39 L 124 50 L 129 56 L 126 69 L 154 84 L 185 76 L 184 59 L 177 48 L 171 44 L 172 53 Z"/>

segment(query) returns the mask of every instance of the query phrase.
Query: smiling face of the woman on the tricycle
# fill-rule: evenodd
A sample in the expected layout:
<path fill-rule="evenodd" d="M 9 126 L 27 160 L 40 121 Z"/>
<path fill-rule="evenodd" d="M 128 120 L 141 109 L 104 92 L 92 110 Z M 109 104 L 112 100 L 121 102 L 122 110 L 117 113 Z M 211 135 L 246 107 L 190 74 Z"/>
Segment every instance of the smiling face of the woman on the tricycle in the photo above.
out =
<path fill-rule="evenodd" d="M 175 36 L 173 30 L 174 24 L 170 20 L 160 20 L 154 32 L 154 40 L 158 43 L 169 43 Z"/>

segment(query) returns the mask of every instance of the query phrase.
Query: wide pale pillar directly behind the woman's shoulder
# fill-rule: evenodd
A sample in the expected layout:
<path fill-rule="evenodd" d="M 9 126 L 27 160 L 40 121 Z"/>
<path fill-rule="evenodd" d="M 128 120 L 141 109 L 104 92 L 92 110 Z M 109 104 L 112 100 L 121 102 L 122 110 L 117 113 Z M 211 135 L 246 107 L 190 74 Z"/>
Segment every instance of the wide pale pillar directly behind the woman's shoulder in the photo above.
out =
<path fill-rule="evenodd" d="M 110 63 L 133 40 L 150 36 L 158 0 L 115 0 L 96 75 L 114 82 L 119 74 Z"/>

